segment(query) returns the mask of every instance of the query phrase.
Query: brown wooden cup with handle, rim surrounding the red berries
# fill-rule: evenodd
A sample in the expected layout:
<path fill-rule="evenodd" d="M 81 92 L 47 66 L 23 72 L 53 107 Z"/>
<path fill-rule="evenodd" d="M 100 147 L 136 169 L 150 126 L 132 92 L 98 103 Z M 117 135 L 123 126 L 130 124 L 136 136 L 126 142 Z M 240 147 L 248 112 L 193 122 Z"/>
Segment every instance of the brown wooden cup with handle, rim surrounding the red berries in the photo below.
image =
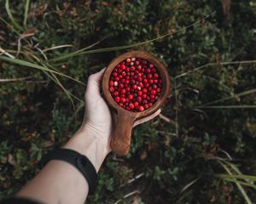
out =
<path fill-rule="evenodd" d="M 160 98 L 155 101 L 152 107 L 148 108 L 145 111 L 133 112 L 125 110 L 114 101 L 112 95 L 109 92 L 108 84 L 113 69 L 120 62 L 124 61 L 127 58 L 133 57 L 146 59 L 151 62 L 160 72 L 160 76 L 163 81 Z M 133 127 L 133 123 L 136 122 L 138 119 L 153 114 L 155 111 L 160 109 L 162 105 L 164 105 L 167 97 L 171 94 L 171 81 L 166 66 L 159 59 L 154 57 L 154 55 L 148 54 L 144 51 L 131 51 L 119 55 L 110 62 L 102 78 L 102 91 L 108 105 L 112 108 L 113 111 L 116 111 L 117 113 L 117 124 L 115 129 L 113 130 L 113 135 L 110 143 L 111 148 L 113 152 L 117 155 L 125 156 L 126 154 L 128 154 L 130 149 L 131 130 Z"/>

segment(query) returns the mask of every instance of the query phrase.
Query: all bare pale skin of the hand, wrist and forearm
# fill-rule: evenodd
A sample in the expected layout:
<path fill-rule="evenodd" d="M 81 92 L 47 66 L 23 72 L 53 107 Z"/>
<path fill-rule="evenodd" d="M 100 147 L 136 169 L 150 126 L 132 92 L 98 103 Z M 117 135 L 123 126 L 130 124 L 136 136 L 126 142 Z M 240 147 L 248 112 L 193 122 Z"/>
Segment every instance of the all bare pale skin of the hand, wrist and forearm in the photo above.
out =
<path fill-rule="evenodd" d="M 63 146 L 87 156 L 97 172 L 111 151 L 110 139 L 115 126 L 115 116 L 112 116 L 100 94 L 103 72 L 104 69 L 89 77 L 85 91 L 84 122 L 72 139 Z M 159 114 L 160 110 L 138 120 L 134 127 Z M 88 190 L 87 181 L 75 167 L 65 161 L 52 160 L 17 193 L 17 196 L 49 204 L 81 204 L 86 200 Z"/>

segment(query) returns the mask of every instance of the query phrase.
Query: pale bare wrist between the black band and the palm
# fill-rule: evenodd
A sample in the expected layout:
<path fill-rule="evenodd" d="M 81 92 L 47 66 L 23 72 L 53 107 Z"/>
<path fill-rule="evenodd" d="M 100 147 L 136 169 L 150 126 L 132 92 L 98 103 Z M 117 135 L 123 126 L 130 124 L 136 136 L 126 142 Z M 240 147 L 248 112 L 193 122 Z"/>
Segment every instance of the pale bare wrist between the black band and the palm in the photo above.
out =
<path fill-rule="evenodd" d="M 106 144 L 102 143 L 101 139 L 97 138 L 96 133 L 87 127 L 80 128 L 79 131 L 73 135 L 72 139 L 64 145 L 64 148 L 76 150 L 86 156 L 96 168 L 96 172 L 99 171 L 102 162 L 108 155 Z"/>

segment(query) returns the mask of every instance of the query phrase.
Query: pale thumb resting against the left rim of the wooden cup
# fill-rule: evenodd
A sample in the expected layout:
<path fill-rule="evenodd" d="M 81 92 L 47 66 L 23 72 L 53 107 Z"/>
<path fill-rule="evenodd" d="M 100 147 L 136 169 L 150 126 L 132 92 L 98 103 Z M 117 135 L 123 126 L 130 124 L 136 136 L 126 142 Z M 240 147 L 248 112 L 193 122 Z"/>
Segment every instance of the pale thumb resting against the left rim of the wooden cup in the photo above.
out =
<path fill-rule="evenodd" d="M 90 75 L 90 77 L 88 78 L 86 92 L 90 92 L 90 94 L 100 94 L 100 81 L 105 70 L 106 68 L 96 72 L 95 74 Z"/>

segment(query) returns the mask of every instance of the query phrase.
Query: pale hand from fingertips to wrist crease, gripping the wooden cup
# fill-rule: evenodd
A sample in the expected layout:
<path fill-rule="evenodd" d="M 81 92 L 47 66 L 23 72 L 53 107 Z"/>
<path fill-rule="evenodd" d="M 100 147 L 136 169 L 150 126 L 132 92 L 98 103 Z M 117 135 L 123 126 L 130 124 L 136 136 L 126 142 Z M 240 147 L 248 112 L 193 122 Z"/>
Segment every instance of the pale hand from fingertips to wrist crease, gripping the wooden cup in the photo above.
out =
<path fill-rule="evenodd" d="M 110 139 L 113 128 L 115 127 L 116 114 L 111 113 L 100 92 L 101 79 L 104 71 L 105 69 L 102 69 L 102 71 L 90 75 L 89 77 L 88 87 L 85 92 L 85 113 L 83 126 L 85 129 L 89 128 L 90 131 L 95 132 L 96 137 L 99 140 L 102 140 L 109 152 L 111 151 Z M 148 122 L 159 114 L 160 110 L 154 112 L 154 114 L 151 116 L 138 120 L 134 123 L 134 127 L 143 122 Z"/>

